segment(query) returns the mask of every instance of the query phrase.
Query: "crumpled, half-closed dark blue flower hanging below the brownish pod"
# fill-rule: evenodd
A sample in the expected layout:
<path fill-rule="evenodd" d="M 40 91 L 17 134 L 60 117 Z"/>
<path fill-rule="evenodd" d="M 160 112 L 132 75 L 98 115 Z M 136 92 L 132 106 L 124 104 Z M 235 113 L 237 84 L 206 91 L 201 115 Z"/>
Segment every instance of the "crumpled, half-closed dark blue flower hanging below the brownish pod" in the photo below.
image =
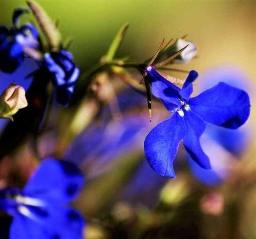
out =
<path fill-rule="evenodd" d="M 46 67 L 55 86 L 56 100 L 62 105 L 68 105 L 79 76 L 79 69 L 72 60 L 72 54 L 65 50 L 45 54 Z"/>

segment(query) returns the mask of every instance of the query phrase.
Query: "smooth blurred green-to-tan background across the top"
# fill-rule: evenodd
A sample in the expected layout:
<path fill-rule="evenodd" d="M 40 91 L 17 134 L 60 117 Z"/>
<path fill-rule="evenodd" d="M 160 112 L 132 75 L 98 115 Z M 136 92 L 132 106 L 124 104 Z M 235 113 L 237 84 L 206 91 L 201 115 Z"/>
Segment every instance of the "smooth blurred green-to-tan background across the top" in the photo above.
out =
<path fill-rule="evenodd" d="M 60 19 L 63 39 L 74 39 L 71 51 L 81 68 L 91 66 L 106 52 L 124 23 L 130 29 L 120 55 L 142 60 L 151 56 L 163 37 L 189 34 L 199 58 L 182 66 L 202 72 L 232 63 L 255 76 L 256 1 L 221 0 L 38 0 L 53 19 Z M 23 0 L 1 0 L 1 24 L 10 24 L 12 11 Z M 24 17 L 25 18 L 25 17 Z"/>

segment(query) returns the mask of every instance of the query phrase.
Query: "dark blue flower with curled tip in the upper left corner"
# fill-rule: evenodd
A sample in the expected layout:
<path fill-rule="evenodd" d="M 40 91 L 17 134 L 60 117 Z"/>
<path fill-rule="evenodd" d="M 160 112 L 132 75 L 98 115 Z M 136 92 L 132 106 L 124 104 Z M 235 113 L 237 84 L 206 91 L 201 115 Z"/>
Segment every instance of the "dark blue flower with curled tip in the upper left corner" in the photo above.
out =
<path fill-rule="evenodd" d="M 38 32 L 32 24 L 18 27 L 18 19 L 26 9 L 16 9 L 13 14 L 13 27 L 0 26 L 0 70 L 13 73 L 25 59 L 24 50 L 38 48 Z"/>

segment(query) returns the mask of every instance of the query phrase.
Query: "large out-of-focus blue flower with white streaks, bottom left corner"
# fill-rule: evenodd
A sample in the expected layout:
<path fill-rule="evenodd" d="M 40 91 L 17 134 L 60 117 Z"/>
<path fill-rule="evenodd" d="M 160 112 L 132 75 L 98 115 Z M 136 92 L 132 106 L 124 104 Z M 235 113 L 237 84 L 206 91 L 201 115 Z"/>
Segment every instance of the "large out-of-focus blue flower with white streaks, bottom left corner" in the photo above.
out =
<path fill-rule="evenodd" d="M 83 238 L 82 216 L 66 207 L 82 184 L 83 176 L 72 163 L 46 159 L 24 189 L 0 190 L 0 208 L 13 215 L 10 238 Z"/>

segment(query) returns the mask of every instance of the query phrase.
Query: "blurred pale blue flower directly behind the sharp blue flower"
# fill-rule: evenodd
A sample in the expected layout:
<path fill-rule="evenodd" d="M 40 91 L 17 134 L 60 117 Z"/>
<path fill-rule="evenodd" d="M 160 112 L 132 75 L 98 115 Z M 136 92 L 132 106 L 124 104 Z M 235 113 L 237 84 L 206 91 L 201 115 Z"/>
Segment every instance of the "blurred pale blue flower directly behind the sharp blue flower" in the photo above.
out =
<path fill-rule="evenodd" d="M 228 65 L 207 70 L 202 75 L 200 89 L 207 90 L 221 81 L 249 91 L 248 79 L 245 74 L 236 67 Z M 187 154 L 194 177 L 209 186 L 223 183 L 229 176 L 230 166 L 244 153 L 250 139 L 251 125 L 249 122 L 236 131 L 208 125 L 204 137 L 201 138 L 201 144 L 210 158 L 212 169 L 201 168 Z"/>

